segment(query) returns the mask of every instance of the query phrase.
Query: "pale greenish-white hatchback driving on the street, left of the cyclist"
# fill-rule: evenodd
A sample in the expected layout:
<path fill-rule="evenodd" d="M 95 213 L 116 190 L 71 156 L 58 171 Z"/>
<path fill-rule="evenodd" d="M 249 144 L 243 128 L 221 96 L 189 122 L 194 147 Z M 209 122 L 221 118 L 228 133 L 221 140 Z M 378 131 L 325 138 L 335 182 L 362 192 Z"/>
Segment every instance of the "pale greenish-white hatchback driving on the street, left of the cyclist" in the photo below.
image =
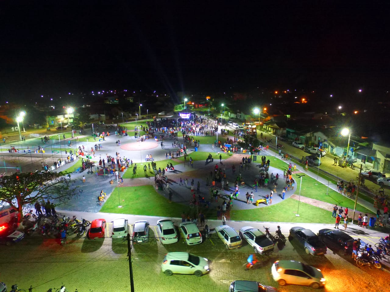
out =
<path fill-rule="evenodd" d="M 161 270 L 168 276 L 194 274 L 200 277 L 210 271 L 209 260 L 188 252 L 168 252 L 161 264 Z"/>

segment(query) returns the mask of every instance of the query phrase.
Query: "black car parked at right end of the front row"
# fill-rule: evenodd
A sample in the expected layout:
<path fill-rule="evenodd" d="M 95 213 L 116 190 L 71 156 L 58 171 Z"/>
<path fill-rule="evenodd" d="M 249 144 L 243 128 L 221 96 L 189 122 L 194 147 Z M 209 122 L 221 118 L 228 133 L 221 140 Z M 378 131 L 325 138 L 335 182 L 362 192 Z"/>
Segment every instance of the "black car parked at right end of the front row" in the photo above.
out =
<path fill-rule="evenodd" d="M 339 253 L 339 255 L 352 253 L 354 239 L 341 230 L 321 229 L 318 231 L 318 237 L 328 248 Z"/>

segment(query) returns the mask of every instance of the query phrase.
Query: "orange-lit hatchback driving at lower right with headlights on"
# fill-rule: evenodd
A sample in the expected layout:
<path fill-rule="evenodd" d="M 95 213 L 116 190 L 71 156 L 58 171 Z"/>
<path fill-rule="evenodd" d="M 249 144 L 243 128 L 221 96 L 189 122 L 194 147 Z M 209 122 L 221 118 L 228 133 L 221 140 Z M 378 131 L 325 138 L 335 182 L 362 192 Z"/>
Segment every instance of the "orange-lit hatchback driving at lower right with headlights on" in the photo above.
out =
<path fill-rule="evenodd" d="M 317 289 L 325 284 L 325 278 L 320 269 L 295 260 L 277 260 L 272 264 L 271 273 L 273 280 L 277 281 L 280 286 L 295 284 Z"/>

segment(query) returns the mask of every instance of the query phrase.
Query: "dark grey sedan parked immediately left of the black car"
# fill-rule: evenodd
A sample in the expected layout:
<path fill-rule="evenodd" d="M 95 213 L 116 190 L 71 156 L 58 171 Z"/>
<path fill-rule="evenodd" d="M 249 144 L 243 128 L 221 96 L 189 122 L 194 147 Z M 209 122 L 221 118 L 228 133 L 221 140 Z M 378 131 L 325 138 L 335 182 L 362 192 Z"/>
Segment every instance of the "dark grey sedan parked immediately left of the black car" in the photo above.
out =
<path fill-rule="evenodd" d="M 323 255 L 326 253 L 326 246 L 310 229 L 299 226 L 292 227 L 290 229 L 289 240 L 298 241 L 305 248 L 305 252 L 308 255 Z"/>

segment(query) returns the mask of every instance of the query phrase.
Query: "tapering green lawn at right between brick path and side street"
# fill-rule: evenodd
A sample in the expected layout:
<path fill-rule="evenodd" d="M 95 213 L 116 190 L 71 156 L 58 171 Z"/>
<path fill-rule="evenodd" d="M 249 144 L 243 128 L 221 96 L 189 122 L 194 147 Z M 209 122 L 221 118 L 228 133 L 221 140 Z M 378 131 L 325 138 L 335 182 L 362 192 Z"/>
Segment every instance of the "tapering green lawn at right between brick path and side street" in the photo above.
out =
<path fill-rule="evenodd" d="M 301 179 L 298 178 L 297 174 L 293 174 L 293 178 L 295 180 L 295 188 L 294 188 L 294 190 L 296 190 L 295 193 L 299 194 Z M 355 204 L 353 200 L 341 195 L 340 193 L 332 189 L 328 189 L 328 195 L 327 195 L 326 194 L 327 187 L 328 186 L 323 185 L 322 183 L 318 183 L 314 178 L 311 178 L 310 176 L 304 176 L 302 177 L 301 195 L 319 201 L 327 202 L 330 204 L 337 204 L 337 206 L 348 207 L 351 210 L 353 209 L 353 206 Z M 372 213 L 372 211 L 359 204 L 356 206 L 356 209 L 358 209 L 363 213 Z"/>

